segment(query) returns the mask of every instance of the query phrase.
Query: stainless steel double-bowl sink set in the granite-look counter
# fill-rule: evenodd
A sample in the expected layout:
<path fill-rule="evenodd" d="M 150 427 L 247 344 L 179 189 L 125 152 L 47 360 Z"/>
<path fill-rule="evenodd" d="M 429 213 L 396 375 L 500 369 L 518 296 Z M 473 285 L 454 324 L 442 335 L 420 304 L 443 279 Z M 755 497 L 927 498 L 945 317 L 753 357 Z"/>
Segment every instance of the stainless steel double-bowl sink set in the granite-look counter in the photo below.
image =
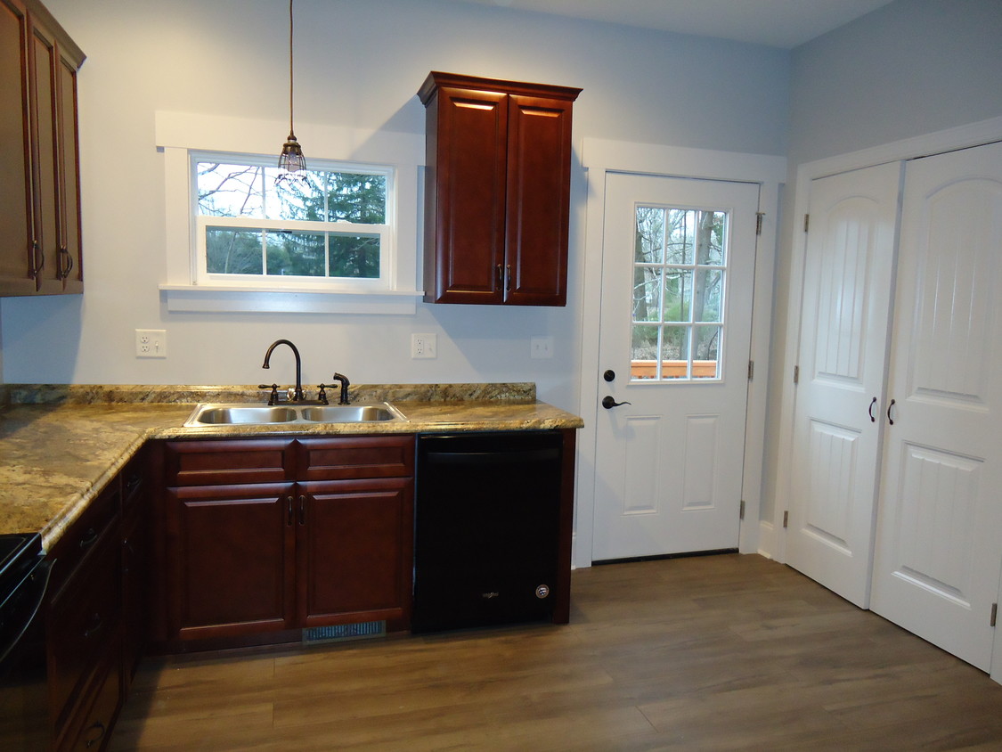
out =
<path fill-rule="evenodd" d="M 389 402 L 359 405 L 209 403 L 195 406 L 184 422 L 184 427 L 287 425 L 290 423 L 382 423 L 406 420 L 407 417 Z"/>

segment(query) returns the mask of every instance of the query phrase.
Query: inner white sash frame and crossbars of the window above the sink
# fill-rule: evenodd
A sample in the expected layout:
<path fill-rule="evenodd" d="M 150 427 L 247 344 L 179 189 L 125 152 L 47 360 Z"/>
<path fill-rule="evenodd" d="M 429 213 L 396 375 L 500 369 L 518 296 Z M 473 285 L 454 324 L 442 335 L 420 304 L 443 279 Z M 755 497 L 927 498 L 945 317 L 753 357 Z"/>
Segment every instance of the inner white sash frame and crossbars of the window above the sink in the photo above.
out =
<path fill-rule="evenodd" d="M 329 159 L 311 159 L 307 166 L 310 169 L 330 172 L 352 172 L 362 174 L 378 174 L 386 179 L 386 224 L 363 225 L 351 222 L 305 222 L 302 220 L 264 220 L 247 217 L 212 217 L 198 214 L 198 175 L 196 165 L 202 161 L 220 161 L 232 164 L 248 164 L 254 166 L 275 166 L 277 159 L 271 155 L 235 154 L 220 151 L 189 150 L 191 183 L 189 197 L 191 207 L 191 248 L 196 255 L 194 259 L 194 280 L 197 285 L 218 287 L 253 288 L 263 291 L 281 292 L 286 290 L 316 289 L 333 293 L 385 292 L 391 289 L 391 269 L 395 258 L 394 228 L 396 226 L 395 207 L 396 169 L 391 166 L 364 164 L 360 162 L 333 161 Z M 267 178 L 266 178 L 267 179 Z M 375 235 L 380 239 L 379 277 L 349 278 L 349 277 L 282 277 L 268 274 L 217 274 L 207 269 L 205 256 L 205 228 L 230 227 L 247 230 L 299 230 L 315 233 L 343 233 L 351 235 Z M 328 258 L 328 262 L 330 258 Z"/>

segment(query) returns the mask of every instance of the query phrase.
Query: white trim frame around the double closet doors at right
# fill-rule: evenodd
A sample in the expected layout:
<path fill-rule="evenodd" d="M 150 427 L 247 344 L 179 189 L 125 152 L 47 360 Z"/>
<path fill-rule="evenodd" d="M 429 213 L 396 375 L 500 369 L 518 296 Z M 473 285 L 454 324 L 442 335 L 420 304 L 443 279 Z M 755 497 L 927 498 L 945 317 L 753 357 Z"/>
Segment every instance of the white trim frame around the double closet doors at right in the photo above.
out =
<path fill-rule="evenodd" d="M 760 549 L 764 555 L 784 563 L 787 561 L 787 533 L 783 521 L 785 512 L 790 508 L 793 475 L 791 448 L 794 442 L 797 407 L 797 389 L 793 375 L 794 368 L 798 365 L 801 347 L 800 321 L 804 305 L 805 253 L 807 249 L 807 234 L 803 232 L 803 218 L 808 212 L 811 200 L 812 180 L 890 161 L 930 156 L 998 140 L 1002 140 L 1002 117 L 993 117 L 798 165 L 794 213 L 784 228 L 785 232 L 790 232 L 793 235 L 788 278 L 790 280 L 790 296 L 786 312 L 777 312 L 777 330 L 783 330 L 780 337 L 786 341 L 782 358 L 779 353 L 777 354 L 777 363 L 781 369 L 780 373 L 777 374 L 777 380 L 782 384 L 782 391 L 779 395 L 780 424 L 777 444 L 779 451 L 777 452 L 775 468 L 776 505 L 772 517 L 762 520 L 759 539 Z M 781 319 L 780 316 L 784 313 L 785 318 Z M 892 310 L 892 317 L 893 315 Z M 1002 602 L 1002 584 L 1000 584 L 999 591 L 1000 602 Z M 999 665 L 995 669 L 997 674 L 993 673 L 992 676 L 995 681 L 1002 683 L 1002 641 L 996 640 L 996 650 L 998 660 L 994 662 L 993 666 Z"/>

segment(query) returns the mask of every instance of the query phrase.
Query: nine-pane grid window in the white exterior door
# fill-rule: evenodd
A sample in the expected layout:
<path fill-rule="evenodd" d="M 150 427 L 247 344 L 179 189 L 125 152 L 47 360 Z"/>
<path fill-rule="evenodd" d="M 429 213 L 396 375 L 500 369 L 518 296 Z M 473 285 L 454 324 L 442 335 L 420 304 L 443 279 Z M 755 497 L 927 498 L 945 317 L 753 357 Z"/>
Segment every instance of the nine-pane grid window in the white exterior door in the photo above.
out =
<path fill-rule="evenodd" d="M 719 380 L 727 213 L 635 212 L 630 380 Z"/>

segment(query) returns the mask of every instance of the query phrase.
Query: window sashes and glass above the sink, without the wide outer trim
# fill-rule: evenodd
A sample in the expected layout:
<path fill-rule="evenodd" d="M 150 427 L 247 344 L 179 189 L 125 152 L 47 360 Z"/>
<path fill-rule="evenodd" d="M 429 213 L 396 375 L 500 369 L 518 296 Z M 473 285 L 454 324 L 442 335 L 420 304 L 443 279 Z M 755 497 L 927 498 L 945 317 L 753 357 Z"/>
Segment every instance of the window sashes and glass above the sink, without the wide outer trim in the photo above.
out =
<path fill-rule="evenodd" d="M 388 287 L 393 169 L 320 160 L 309 167 L 280 180 L 273 156 L 191 153 L 198 283 Z"/>

